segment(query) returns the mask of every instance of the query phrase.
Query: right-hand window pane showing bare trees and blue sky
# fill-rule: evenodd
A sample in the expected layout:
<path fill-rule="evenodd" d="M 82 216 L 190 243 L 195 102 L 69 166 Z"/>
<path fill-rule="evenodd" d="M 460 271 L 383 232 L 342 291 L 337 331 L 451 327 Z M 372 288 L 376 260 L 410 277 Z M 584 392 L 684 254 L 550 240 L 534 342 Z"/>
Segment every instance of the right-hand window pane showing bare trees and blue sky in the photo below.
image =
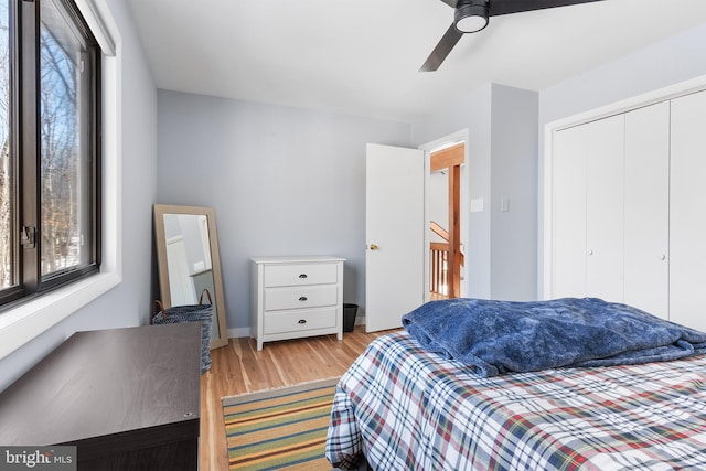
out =
<path fill-rule="evenodd" d="M 81 122 L 82 106 L 89 106 L 85 90 L 82 36 L 47 1 L 42 3 L 40 36 L 41 107 L 41 213 L 42 276 L 61 272 L 88 261 L 84 247 L 89 237 L 90 174 L 86 159 L 87 127 Z M 88 114 L 89 115 L 89 114 Z"/>

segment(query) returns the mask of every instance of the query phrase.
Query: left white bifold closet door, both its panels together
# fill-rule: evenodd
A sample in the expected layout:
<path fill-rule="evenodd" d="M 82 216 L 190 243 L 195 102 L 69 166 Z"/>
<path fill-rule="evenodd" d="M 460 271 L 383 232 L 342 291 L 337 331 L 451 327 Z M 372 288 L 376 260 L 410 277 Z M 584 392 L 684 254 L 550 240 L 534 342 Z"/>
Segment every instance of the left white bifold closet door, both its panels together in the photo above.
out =
<path fill-rule="evenodd" d="M 622 301 L 624 118 L 555 136 L 554 297 Z"/>

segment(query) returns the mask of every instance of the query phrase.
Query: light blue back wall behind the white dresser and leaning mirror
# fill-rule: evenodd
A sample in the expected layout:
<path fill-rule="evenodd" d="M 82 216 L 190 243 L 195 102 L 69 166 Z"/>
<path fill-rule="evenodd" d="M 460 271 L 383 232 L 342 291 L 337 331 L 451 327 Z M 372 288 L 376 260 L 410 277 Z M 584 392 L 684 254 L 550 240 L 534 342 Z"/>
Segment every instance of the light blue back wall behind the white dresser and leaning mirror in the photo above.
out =
<path fill-rule="evenodd" d="M 231 336 L 249 334 L 254 256 L 334 255 L 345 302 L 365 300 L 365 144 L 410 126 L 159 90 L 158 197 L 215 210 Z"/>

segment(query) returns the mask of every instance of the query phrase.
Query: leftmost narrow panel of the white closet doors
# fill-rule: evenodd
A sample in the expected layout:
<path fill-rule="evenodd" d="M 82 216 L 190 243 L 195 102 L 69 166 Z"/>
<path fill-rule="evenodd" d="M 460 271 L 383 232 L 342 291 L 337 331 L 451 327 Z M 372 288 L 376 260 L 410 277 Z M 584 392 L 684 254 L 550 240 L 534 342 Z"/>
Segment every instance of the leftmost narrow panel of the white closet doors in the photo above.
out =
<path fill-rule="evenodd" d="M 554 298 L 586 296 L 586 142 L 582 126 L 554 138 Z"/>

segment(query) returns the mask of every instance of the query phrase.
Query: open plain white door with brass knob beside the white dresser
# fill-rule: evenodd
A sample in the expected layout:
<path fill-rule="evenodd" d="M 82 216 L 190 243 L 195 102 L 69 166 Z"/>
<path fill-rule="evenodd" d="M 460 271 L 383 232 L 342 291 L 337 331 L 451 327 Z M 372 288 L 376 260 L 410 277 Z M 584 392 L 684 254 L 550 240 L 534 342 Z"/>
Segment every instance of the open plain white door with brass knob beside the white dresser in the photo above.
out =
<path fill-rule="evenodd" d="M 402 325 L 424 302 L 424 151 L 367 144 L 365 325 Z"/>

